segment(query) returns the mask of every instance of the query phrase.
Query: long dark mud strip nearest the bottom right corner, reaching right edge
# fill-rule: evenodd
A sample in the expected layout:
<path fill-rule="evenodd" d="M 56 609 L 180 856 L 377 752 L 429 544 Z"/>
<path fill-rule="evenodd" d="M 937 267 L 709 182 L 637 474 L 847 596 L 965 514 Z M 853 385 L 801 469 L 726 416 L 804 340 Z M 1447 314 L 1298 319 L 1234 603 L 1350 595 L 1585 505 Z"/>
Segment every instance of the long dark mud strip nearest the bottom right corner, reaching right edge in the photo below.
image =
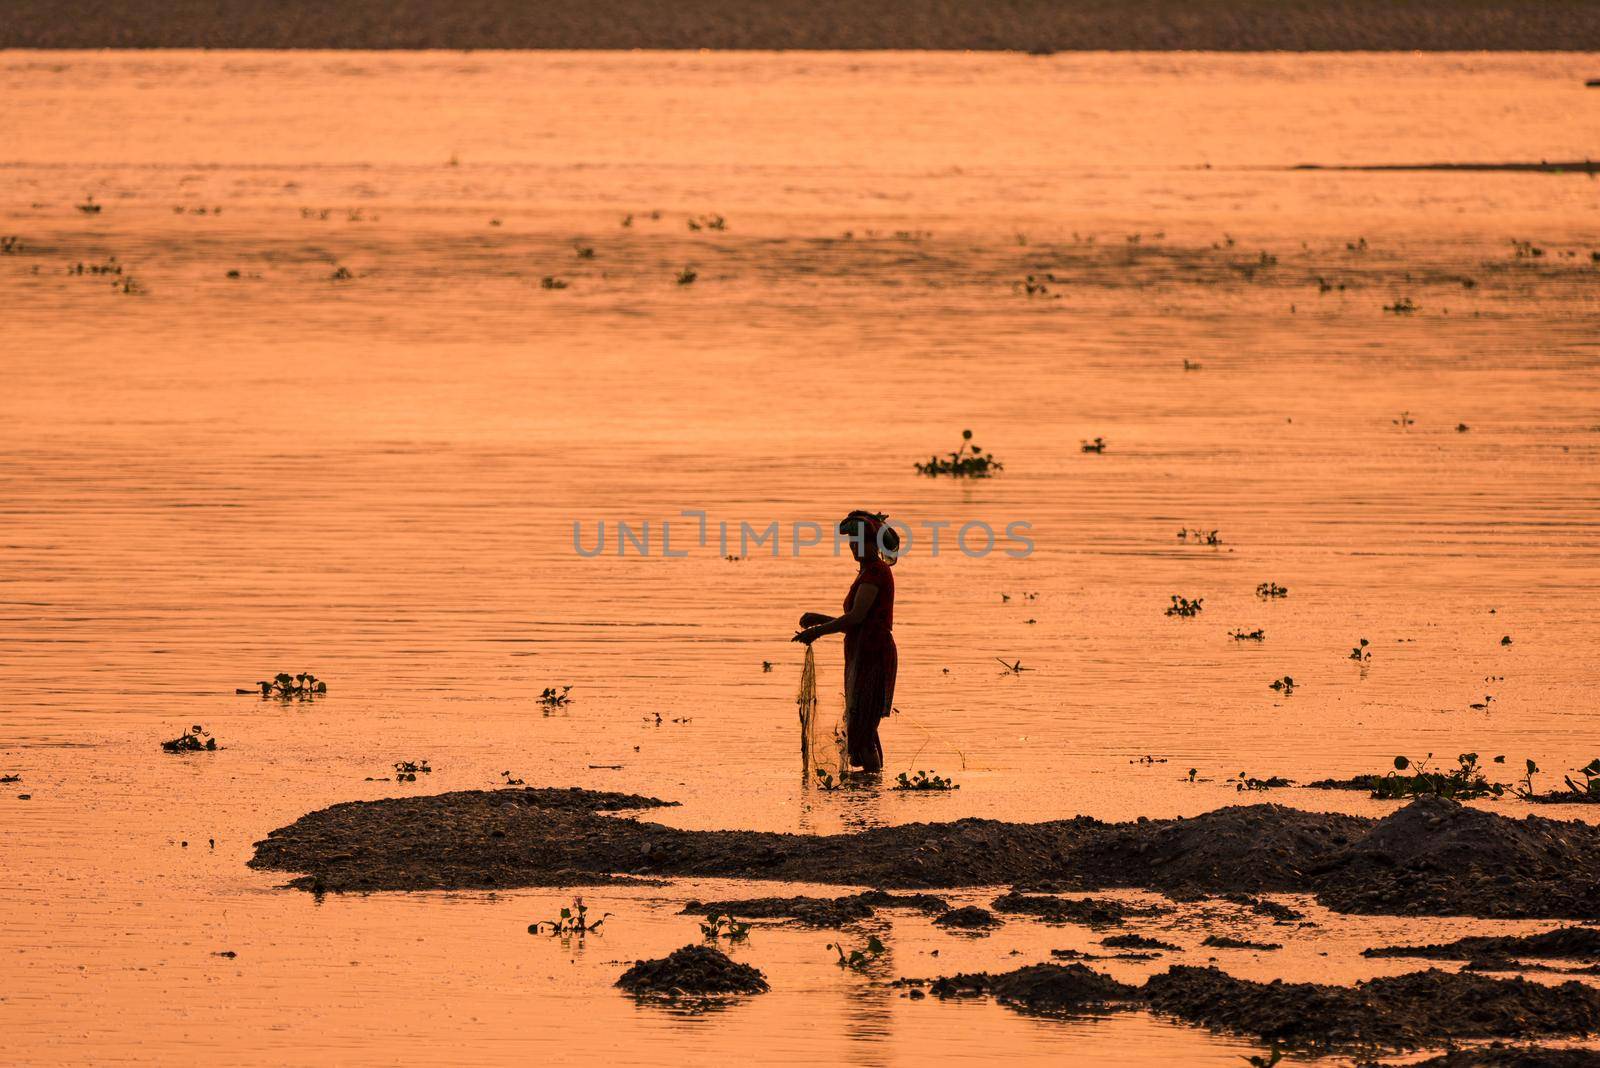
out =
<path fill-rule="evenodd" d="M 1144 996 L 1157 1012 L 1286 1046 L 1410 1049 L 1443 1039 L 1592 1034 L 1600 990 L 1440 970 L 1355 986 L 1258 983 L 1214 967 L 1173 966 Z"/>

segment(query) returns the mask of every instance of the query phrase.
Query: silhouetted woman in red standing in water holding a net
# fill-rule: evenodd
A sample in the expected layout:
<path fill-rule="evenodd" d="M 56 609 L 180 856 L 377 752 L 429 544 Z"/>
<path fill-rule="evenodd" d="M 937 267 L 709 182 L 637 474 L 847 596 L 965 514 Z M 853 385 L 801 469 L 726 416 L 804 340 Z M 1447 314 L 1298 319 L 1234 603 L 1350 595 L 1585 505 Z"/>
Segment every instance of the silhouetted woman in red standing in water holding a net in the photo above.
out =
<path fill-rule="evenodd" d="M 883 745 L 878 721 L 894 705 L 894 671 L 899 654 L 894 649 L 894 574 L 893 553 L 899 550 L 899 534 L 885 526 L 888 516 L 851 512 L 838 521 L 838 532 L 850 539 L 850 550 L 859 566 L 856 580 L 845 595 L 845 614 L 806 612 L 800 617 L 795 641 L 811 644 L 822 635 L 845 635 L 845 735 L 850 763 L 862 771 L 883 769 Z M 885 558 L 883 553 L 890 553 Z"/>

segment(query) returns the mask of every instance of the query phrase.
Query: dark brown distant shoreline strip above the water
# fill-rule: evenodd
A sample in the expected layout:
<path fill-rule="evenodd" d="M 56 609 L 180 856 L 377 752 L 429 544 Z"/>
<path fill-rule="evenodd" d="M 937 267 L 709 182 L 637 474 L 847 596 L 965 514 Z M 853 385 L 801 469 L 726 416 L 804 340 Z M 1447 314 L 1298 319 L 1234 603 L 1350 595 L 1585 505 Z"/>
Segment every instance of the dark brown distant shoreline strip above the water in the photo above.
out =
<path fill-rule="evenodd" d="M 163 0 L 158 8 L 139 6 L 6 0 L 0 48 L 1600 51 L 1600 0 Z"/>

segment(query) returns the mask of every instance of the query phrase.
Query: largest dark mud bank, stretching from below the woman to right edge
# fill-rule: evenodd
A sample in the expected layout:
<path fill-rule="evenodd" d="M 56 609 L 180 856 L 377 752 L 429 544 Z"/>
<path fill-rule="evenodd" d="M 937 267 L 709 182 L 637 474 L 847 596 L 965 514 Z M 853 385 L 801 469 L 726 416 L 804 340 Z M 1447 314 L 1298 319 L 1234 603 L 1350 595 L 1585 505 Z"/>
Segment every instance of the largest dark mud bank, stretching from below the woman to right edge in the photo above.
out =
<path fill-rule="evenodd" d="M 1381 820 L 1275 804 L 1194 819 L 966 819 L 858 835 L 685 831 L 608 809 L 654 798 L 491 790 L 354 801 L 256 843 L 251 867 L 310 891 L 582 886 L 614 876 L 901 889 L 1042 884 L 1173 897 L 1314 894 L 1338 911 L 1600 918 L 1600 828 L 1419 799 Z"/>

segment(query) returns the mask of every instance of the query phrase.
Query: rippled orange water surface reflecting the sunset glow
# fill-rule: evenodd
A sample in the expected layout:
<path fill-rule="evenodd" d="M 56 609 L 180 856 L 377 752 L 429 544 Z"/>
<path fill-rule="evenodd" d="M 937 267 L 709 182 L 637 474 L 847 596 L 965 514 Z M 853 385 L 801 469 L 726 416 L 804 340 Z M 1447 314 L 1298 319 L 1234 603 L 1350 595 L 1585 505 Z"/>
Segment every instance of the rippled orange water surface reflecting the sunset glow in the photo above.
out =
<path fill-rule="evenodd" d="M 680 799 L 662 819 L 685 827 L 811 831 L 1200 812 L 1238 799 L 1240 771 L 1395 753 L 1558 779 L 1600 751 L 1600 187 L 1283 168 L 1595 155 L 1592 74 L 1562 54 L 0 53 L 0 235 L 22 241 L 0 254 L 0 774 L 24 777 L 0 801 L 8 1058 L 1238 1063 L 1246 1042 L 1144 1015 L 904 1001 L 829 966 L 829 932 L 757 931 L 738 953 L 774 993 L 726 1012 L 610 990 L 696 937 L 682 900 L 750 887 L 590 891 L 618 916 L 576 946 L 523 934 L 563 894 L 318 905 L 243 863 L 309 809 L 502 771 Z M 728 229 L 690 232 L 704 214 Z M 139 293 L 67 273 L 110 256 Z M 1018 293 L 1029 273 L 1059 299 Z M 1421 310 L 1382 312 L 1402 297 Z M 962 428 L 1002 476 L 912 472 Z M 798 782 L 787 636 L 840 601 L 846 561 L 571 547 L 574 520 L 592 537 L 688 508 L 787 536 L 859 505 L 917 531 L 1032 523 L 1026 560 L 914 550 L 896 571 L 888 769 L 958 793 Z M 1258 600 L 1267 580 L 1290 596 Z M 1165 617 L 1174 593 L 1202 614 Z M 1256 627 L 1259 646 L 1229 638 Z M 1370 664 L 1346 659 L 1358 638 Z M 837 643 L 819 652 L 837 689 Z M 232 694 L 277 670 L 333 692 Z M 158 751 L 192 723 L 224 751 Z M 366 782 L 424 756 L 416 785 Z M 1317 919 L 1224 964 L 1347 982 L 1410 967 L 1365 945 L 1510 927 Z M 1198 945 L 1198 921 L 1163 937 Z M 1027 921 L 882 931 L 877 978 L 1093 946 Z"/>

